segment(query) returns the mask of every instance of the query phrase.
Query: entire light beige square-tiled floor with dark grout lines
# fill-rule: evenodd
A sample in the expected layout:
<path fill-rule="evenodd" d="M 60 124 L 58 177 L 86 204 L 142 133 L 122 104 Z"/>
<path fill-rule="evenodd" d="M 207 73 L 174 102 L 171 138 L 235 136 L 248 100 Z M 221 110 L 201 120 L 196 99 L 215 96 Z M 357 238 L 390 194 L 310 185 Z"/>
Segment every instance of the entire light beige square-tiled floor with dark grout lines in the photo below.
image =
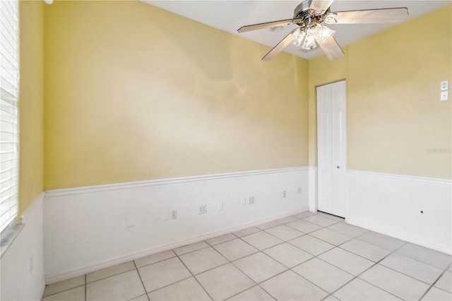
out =
<path fill-rule="evenodd" d="M 452 300 L 451 256 L 299 213 L 47 285 L 50 300 Z"/>

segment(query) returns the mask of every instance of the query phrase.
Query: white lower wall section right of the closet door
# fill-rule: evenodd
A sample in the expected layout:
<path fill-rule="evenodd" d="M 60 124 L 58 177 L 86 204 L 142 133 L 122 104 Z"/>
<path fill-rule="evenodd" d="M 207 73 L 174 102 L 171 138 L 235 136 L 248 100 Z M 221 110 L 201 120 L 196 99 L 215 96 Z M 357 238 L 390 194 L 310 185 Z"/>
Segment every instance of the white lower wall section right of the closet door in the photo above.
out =
<path fill-rule="evenodd" d="M 452 253 L 450 180 L 350 170 L 348 183 L 347 223 Z"/>

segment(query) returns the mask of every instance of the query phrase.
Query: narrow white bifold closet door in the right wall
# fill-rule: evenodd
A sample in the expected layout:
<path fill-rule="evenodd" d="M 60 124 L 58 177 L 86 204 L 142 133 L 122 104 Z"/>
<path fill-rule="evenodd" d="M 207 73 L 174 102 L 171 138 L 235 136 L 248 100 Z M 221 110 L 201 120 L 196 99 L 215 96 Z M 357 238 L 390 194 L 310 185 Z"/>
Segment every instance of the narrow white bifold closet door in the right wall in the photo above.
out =
<path fill-rule="evenodd" d="M 317 153 L 320 211 L 347 212 L 345 81 L 317 87 Z"/>

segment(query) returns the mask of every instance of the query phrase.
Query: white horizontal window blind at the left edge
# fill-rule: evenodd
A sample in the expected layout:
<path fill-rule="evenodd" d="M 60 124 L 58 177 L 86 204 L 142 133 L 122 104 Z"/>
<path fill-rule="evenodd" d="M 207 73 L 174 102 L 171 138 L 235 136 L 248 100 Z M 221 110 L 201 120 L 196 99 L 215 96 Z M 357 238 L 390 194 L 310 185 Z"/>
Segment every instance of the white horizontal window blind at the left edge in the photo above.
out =
<path fill-rule="evenodd" d="M 0 0 L 0 232 L 18 211 L 18 0 Z"/>

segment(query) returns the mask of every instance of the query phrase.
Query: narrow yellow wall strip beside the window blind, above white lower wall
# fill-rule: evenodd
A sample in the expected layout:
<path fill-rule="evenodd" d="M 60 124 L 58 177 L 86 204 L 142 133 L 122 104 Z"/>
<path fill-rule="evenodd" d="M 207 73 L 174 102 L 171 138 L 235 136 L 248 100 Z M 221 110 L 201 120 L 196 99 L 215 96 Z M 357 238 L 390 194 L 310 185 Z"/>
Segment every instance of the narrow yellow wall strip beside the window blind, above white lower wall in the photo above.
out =
<path fill-rule="evenodd" d="M 20 1 L 19 213 L 43 190 L 44 4 Z"/>

